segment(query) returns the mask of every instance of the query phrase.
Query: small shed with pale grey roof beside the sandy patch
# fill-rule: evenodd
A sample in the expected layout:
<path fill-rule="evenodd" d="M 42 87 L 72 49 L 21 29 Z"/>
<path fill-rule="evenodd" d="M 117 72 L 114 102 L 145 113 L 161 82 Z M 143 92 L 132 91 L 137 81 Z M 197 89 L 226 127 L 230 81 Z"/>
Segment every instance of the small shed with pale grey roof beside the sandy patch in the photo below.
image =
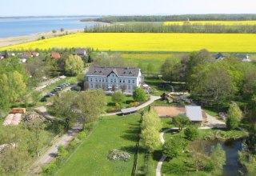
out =
<path fill-rule="evenodd" d="M 202 123 L 201 106 L 185 106 L 186 117 L 190 118 L 191 122 Z"/>

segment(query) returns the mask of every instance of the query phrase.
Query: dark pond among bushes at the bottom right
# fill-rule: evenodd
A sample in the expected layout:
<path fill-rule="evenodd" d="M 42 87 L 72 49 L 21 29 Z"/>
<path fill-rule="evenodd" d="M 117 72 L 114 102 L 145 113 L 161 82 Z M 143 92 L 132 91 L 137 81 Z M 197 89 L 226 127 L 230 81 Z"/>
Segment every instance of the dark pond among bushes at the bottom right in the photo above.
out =
<path fill-rule="evenodd" d="M 226 152 L 226 165 L 223 166 L 223 175 L 239 175 L 238 170 L 244 171 L 242 166 L 238 163 L 238 151 L 242 150 L 242 139 L 231 140 L 226 142 L 220 141 L 202 141 L 206 142 L 206 152 L 210 153 L 212 146 L 217 146 L 218 143 L 222 145 Z"/>

